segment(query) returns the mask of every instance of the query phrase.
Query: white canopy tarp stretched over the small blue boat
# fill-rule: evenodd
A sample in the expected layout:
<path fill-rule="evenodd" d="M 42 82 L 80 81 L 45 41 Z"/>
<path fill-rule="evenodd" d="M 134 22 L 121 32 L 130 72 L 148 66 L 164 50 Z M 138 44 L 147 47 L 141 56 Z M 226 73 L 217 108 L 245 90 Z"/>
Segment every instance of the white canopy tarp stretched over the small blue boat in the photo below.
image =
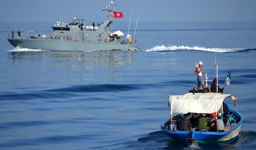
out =
<path fill-rule="evenodd" d="M 206 113 L 220 110 L 224 98 L 228 94 L 217 93 L 187 93 L 185 95 L 170 95 L 169 104 L 172 113 Z"/>

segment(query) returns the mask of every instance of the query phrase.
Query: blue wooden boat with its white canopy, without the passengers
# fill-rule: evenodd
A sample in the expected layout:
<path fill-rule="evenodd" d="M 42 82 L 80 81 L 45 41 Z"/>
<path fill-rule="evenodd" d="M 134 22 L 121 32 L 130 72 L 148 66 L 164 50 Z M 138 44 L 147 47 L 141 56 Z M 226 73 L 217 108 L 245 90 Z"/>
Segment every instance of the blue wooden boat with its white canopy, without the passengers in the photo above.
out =
<path fill-rule="evenodd" d="M 206 113 L 209 112 L 218 112 L 223 113 L 222 104 L 224 98 L 231 97 L 233 100 L 237 98 L 225 94 L 217 93 L 188 93 L 186 95 L 176 95 L 169 96 L 169 106 L 171 115 L 173 113 L 183 113 L 188 112 L 194 113 Z M 217 97 L 215 97 L 215 95 Z M 203 102 L 202 102 L 203 101 Z M 215 103 L 216 102 L 216 103 Z M 235 101 L 236 102 L 236 101 Z M 178 103 L 178 104 L 176 104 Z M 192 105 L 191 105 L 192 104 Z M 212 107 L 207 107 L 206 105 L 211 105 Z M 213 108 L 214 107 L 214 108 Z M 211 109 L 212 108 L 212 109 Z M 181 110 L 178 110 L 181 109 Z M 208 110 L 211 109 L 211 110 Z M 215 109 L 215 110 L 214 110 Z M 230 144 L 237 137 L 242 122 L 243 115 L 233 109 L 228 109 L 228 115 L 226 116 L 233 128 L 224 131 L 224 132 L 206 132 L 206 131 L 195 131 L 194 128 L 192 131 L 172 131 L 164 127 L 161 128 L 162 132 L 169 136 L 169 139 L 172 141 L 178 142 L 191 142 L 193 143 L 203 143 L 203 144 Z"/>

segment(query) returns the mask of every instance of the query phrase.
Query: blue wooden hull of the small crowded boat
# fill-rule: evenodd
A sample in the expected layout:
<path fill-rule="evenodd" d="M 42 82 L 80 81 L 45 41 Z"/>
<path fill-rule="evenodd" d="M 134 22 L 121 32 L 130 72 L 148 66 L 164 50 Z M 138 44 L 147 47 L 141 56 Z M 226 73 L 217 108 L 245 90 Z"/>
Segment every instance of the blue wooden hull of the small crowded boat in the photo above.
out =
<path fill-rule="evenodd" d="M 232 128 L 224 132 L 201 132 L 201 131 L 170 131 L 162 129 L 162 132 L 169 136 L 170 140 L 178 142 L 191 142 L 187 141 L 189 138 L 196 139 L 195 143 L 205 143 L 205 144 L 230 144 L 237 137 L 242 122 L 243 115 L 238 111 L 229 109 L 229 114 L 234 118 L 234 122 L 237 124 Z"/>

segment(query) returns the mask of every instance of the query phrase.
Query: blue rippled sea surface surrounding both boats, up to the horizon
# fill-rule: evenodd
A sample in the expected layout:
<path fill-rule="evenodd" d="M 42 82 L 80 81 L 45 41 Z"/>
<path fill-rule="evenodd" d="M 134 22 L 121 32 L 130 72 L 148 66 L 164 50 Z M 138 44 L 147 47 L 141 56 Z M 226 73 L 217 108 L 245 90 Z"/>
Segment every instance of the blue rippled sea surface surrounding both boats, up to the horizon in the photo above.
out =
<path fill-rule="evenodd" d="M 53 24 L 1 22 L 1 150 L 255 149 L 256 21 L 139 22 L 136 46 L 144 51 L 137 52 L 52 52 L 6 40 L 7 28 L 25 37 L 26 30 L 48 35 Z M 126 35 L 128 24 L 113 28 Z M 220 87 L 230 71 L 224 93 L 239 98 L 237 107 L 225 102 L 245 117 L 237 140 L 170 141 L 159 128 L 170 118 L 167 96 L 196 86 L 196 62 L 215 77 L 215 57 Z"/>

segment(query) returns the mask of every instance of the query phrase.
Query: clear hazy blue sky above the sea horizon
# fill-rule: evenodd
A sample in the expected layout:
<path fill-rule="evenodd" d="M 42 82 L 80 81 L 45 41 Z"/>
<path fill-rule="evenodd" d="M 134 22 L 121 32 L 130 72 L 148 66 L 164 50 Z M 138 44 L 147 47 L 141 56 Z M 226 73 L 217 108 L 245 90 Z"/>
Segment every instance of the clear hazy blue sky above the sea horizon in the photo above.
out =
<path fill-rule="evenodd" d="M 129 21 L 240 21 L 256 20 L 256 0 L 117 0 L 117 11 Z M 71 21 L 73 17 L 87 21 L 104 21 L 101 6 L 109 0 L 1 0 L 0 21 Z"/>

